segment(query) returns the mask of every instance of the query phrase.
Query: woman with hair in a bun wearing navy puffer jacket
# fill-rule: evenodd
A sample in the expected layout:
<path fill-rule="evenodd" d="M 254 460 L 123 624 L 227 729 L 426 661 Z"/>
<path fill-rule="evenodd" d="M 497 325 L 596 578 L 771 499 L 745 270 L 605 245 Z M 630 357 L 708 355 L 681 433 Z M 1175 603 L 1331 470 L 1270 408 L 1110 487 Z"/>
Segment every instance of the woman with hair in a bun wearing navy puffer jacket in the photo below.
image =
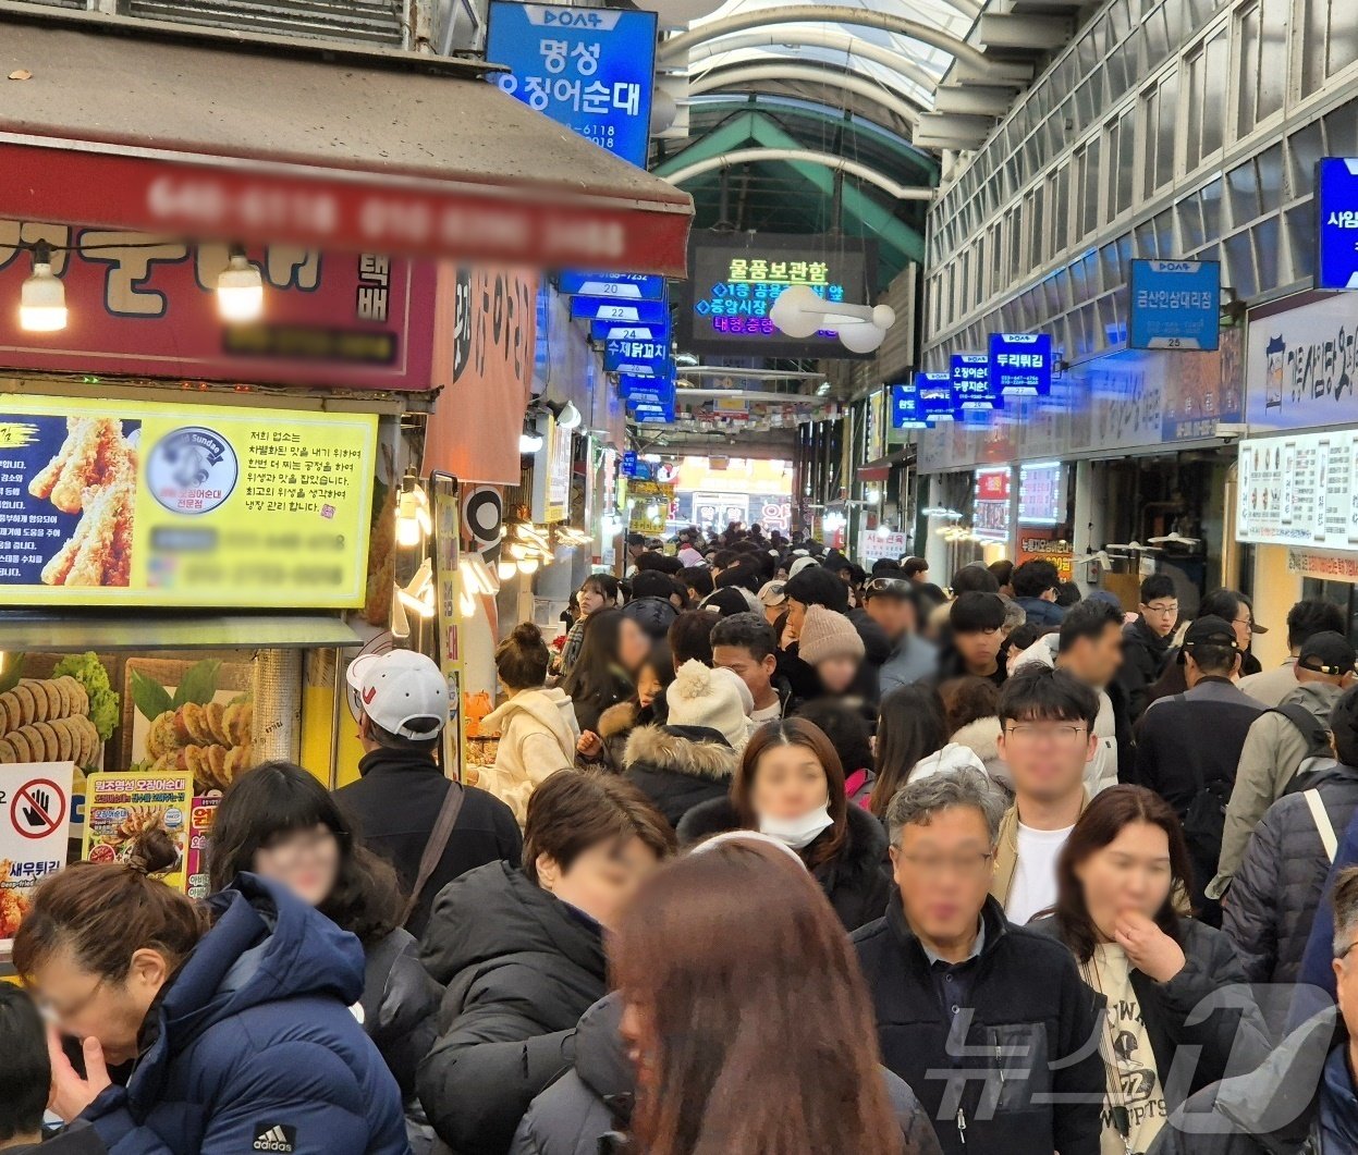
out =
<path fill-rule="evenodd" d="M 84 1067 L 52 1044 L 50 1110 L 110 1151 L 406 1155 L 401 1091 L 350 1010 L 359 941 L 254 874 L 198 905 L 151 877 L 178 855 L 148 829 L 125 862 L 38 888 L 14 965 Z"/>

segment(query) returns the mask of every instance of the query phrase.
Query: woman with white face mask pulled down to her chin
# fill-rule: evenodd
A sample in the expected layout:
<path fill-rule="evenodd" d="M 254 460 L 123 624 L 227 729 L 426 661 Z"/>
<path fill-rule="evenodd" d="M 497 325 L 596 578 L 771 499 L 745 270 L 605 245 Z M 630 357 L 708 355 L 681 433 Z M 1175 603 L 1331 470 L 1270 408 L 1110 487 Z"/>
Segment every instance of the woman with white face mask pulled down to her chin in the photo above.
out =
<path fill-rule="evenodd" d="M 755 730 L 731 797 L 694 806 L 679 822 L 679 841 L 729 829 L 760 831 L 796 851 L 847 930 L 885 913 L 887 833 L 866 810 L 849 805 L 843 764 L 819 726 L 785 718 Z"/>

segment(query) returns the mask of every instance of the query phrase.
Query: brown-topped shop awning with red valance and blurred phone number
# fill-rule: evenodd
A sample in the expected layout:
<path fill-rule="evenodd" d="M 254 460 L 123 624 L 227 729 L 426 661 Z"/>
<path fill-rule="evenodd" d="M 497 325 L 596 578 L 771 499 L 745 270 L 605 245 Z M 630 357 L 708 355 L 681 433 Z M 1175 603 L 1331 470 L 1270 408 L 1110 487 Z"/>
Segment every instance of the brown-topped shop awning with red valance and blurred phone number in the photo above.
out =
<path fill-rule="evenodd" d="M 485 72 L 0 0 L 0 219 L 683 276 L 689 194 Z"/>

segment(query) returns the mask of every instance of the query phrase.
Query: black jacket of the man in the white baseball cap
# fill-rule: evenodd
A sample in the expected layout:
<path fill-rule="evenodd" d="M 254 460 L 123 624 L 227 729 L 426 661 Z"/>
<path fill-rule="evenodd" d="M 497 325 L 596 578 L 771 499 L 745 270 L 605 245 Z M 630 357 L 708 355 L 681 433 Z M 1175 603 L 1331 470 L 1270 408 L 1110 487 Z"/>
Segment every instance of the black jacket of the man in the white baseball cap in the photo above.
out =
<path fill-rule="evenodd" d="M 443 799 L 454 783 L 428 755 L 379 749 L 359 763 L 357 782 L 335 791 L 335 801 L 353 814 L 364 844 L 397 867 L 401 889 L 409 894 L 420 877 L 420 859 L 429 844 Z M 513 810 L 493 794 L 463 787 L 466 799 L 448 848 L 406 922 L 416 938 L 424 934 L 435 896 L 459 874 L 488 862 L 515 865 L 523 856 L 523 835 Z"/>

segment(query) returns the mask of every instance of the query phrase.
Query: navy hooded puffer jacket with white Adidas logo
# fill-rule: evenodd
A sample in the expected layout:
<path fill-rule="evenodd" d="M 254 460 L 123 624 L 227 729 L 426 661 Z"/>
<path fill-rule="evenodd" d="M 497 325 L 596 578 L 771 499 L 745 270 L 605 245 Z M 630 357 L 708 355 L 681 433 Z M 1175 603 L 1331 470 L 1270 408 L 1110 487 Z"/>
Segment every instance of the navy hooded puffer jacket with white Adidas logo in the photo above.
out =
<path fill-rule="evenodd" d="M 359 939 L 253 874 L 209 907 L 128 1086 L 81 1116 L 110 1155 L 406 1155 L 401 1093 L 350 1010 Z"/>

